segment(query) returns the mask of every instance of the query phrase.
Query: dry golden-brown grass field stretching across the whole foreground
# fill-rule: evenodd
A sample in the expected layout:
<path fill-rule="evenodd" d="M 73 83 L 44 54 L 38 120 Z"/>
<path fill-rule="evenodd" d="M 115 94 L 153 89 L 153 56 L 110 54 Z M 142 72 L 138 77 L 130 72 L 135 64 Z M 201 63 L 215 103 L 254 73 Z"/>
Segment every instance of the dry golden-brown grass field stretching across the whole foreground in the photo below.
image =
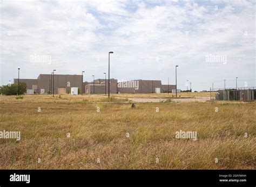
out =
<path fill-rule="evenodd" d="M 16 97 L 0 96 L 0 131 L 21 131 L 20 141 L 0 139 L 0 169 L 256 168 L 255 102 L 131 109 L 125 98 Z M 196 131 L 197 140 L 176 139 L 180 130 Z"/>

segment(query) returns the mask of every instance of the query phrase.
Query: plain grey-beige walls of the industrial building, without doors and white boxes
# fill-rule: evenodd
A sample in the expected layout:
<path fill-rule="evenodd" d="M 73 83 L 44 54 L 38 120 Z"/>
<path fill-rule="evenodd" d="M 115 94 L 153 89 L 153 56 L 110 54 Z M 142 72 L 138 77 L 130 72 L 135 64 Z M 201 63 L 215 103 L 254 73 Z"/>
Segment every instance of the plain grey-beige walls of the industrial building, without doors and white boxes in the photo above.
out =
<path fill-rule="evenodd" d="M 20 82 L 25 82 L 28 86 L 27 89 L 32 89 L 32 85 L 37 85 L 38 92 L 44 89 L 45 93 L 50 91 L 51 74 L 40 74 L 37 79 L 19 79 Z M 161 81 L 154 80 L 133 80 L 137 81 L 138 90 L 135 88 L 118 88 L 117 80 L 110 79 L 110 92 L 117 93 L 154 93 L 155 88 L 160 88 L 161 92 L 167 92 L 168 85 L 162 85 Z M 14 80 L 18 83 L 18 79 Z M 69 86 L 68 86 L 69 83 Z M 121 82 L 122 83 L 122 82 Z M 88 85 L 88 86 L 87 86 Z M 95 80 L 95 93 L 105 93 L 105 78 Z M 71 92 L 71 87 L 78 87 L 82 90 L 82 75 L 55 75 L 54 76 L 54 93 L 58 93 L 58 88 L 65 88 L 66 93 Z M 83 93 L 93 93 L 93 82 L 83 82 Z M 169 90 L 175 89 L 175 85 L 169 85 Z M 106 80 L 106 93 L 109 92 L 108 80 Z"/>

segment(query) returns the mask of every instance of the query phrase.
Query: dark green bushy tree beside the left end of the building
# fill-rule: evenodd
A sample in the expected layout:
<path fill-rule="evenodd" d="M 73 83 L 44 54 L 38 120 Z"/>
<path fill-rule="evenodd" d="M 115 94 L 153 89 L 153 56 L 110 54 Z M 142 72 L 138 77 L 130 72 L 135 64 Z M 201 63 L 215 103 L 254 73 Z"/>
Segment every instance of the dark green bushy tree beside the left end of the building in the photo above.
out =
<path fill-rule="evenodd" d="M 3 93 L 3 95 L 18 95 L 18 90 L 19 90 L 19 95 L 23 95 L 26 92 L 26 83 L 21 82 L 18 84 L 9 84 L 9 85 L 3 85 L 0 88 L 0 92 Z"/>

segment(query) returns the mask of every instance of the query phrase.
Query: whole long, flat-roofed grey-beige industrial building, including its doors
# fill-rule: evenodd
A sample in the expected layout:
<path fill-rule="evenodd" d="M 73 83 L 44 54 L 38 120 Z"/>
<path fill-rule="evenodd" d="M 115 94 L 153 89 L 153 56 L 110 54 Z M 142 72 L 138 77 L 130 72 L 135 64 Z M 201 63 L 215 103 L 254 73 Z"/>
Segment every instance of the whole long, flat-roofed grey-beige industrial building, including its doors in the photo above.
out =
<path fill-rule="evenodd" d="M 25 82 L 27 85 L 27 93 L 33 94 L 67 94 L 71 93 L 71 88 L 76 88 L 82 91 L 82 75 L 54 75 L 40 74 L 37 79 L 19 79 L 20 82 Z M 18 79 L 15 78 L 15 83 Z M 108 93 L 109 81 L 105 78 L 96 79 L 94 82 L 83 82 L 83 93 Z M 110 93 L 161 93 L 171 92 L 175 89 L 175 85 L 163 85 L 159 80 L 132 80 L 118 82 L 116 79 L 110 79 Z"/>

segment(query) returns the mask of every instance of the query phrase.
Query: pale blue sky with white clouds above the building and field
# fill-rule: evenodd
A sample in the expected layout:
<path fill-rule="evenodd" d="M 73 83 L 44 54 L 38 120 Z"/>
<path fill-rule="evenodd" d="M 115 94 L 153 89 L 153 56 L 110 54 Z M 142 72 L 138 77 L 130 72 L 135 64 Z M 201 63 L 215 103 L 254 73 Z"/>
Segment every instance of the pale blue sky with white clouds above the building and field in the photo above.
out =
<path fill-rule="evenodd" d="M 0 85 L 39 74 L 256 87 L 255 1 L 0 1 Z"/>

